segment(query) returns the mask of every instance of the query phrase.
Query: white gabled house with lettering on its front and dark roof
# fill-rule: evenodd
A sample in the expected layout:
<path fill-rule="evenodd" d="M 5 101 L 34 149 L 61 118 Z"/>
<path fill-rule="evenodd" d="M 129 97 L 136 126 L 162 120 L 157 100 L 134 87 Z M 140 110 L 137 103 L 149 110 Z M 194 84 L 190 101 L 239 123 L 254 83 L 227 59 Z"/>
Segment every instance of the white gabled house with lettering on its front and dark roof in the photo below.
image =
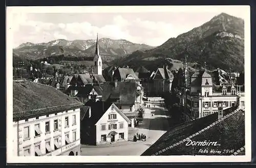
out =
<path fill-rule="evenodd" d="M 130 119 L 112 103 L 88 102 L 81 116 L 82 142 L 91 145 L 128 140 Z M 90 107 L 88 107 L 90 106 Z"/>

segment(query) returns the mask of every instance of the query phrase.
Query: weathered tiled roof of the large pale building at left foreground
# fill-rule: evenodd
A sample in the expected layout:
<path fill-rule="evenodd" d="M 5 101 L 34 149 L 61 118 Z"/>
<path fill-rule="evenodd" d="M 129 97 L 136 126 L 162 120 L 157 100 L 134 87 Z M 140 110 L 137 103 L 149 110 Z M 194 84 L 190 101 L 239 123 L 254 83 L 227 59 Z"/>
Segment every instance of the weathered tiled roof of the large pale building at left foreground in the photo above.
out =
<path fill-rule="evenodd" d="M 34 82 L 13 82 L 13 119 L 65 111 L 83 104 L 51 86 Z"/>

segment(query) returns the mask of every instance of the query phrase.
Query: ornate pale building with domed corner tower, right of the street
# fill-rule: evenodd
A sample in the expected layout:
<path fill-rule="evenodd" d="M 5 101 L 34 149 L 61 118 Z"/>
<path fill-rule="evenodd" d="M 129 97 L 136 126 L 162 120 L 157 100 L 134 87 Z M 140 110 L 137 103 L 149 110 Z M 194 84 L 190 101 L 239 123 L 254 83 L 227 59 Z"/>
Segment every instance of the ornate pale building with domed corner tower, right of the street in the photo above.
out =
<path fill-rule="evenodd" d="M 243 87 L 242 87 L 243 89 Z M 244 106 L 244 91 L 233 84 L 215 85 L 205 70 L 196 70 L 191 76 L 190 86 L 180 96 L 180 103 L 189 109 L 192 118 L 205 117 L 218 111 L 217 102 L 223 101 L 223 108 Z"/>

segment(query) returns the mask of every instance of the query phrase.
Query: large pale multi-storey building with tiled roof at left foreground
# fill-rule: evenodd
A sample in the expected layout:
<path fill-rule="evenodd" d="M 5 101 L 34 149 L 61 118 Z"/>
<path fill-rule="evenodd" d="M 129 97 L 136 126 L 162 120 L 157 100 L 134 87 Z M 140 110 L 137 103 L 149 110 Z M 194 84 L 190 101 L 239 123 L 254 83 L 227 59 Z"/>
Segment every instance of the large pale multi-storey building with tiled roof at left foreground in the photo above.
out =
<path fill-rule="evenodd" d="M 80 155 L 81 106 L 51 86 L 13 81 L 13 155 Z"/>

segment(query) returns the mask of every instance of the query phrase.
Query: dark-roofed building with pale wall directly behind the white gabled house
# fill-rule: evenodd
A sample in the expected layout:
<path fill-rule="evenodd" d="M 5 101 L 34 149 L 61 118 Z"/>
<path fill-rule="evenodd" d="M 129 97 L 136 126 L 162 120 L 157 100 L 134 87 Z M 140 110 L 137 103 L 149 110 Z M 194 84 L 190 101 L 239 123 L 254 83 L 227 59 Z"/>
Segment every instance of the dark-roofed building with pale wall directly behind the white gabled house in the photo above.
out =
<path fill-rule="evenodd" d="M 140 103 L 136 102 L 136 82 L 105 82 L 103 85 L 102 101 L 114 103 L 130 120 L 132 128 L 136 125 L 136 117 Z"/>

